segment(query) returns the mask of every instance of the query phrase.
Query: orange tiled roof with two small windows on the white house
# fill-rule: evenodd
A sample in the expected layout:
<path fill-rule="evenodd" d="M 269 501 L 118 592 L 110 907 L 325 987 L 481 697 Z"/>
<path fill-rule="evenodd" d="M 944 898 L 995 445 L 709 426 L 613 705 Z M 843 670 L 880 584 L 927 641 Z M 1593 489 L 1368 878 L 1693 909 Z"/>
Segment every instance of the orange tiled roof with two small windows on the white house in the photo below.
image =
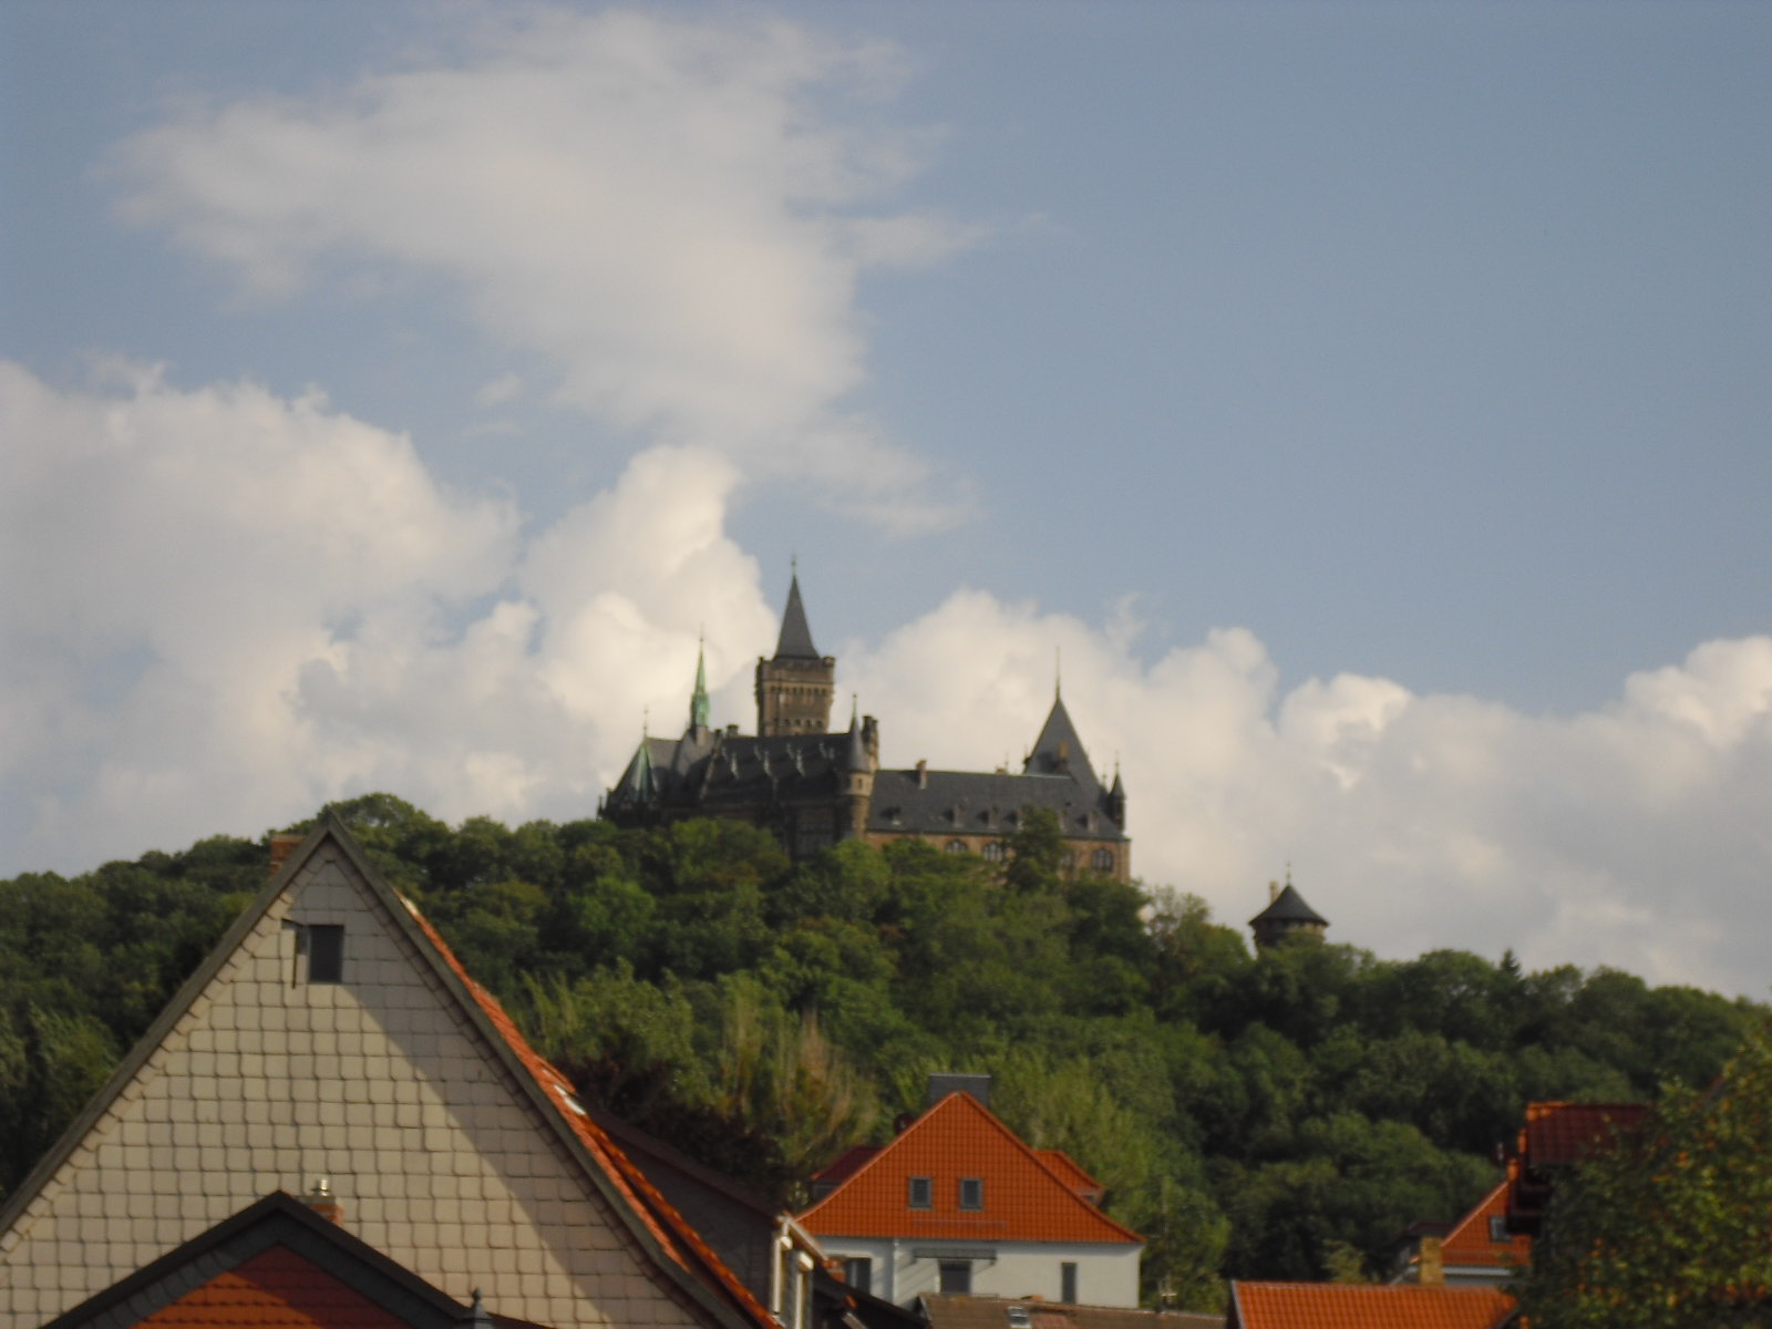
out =
<path fill-rule="evenodd" d="M 1072 1189 L 1076 1171 L 1056 1170 L 973 1095 L 950 1093 L 799 1221 L 815 1237 L 1141 1244 Z M 929 1209 L 911 1209 L 913 1177 L 930 1178 Z M 982 1209 L 960 1209 L 962 1178 L 983 1182 Z"/>

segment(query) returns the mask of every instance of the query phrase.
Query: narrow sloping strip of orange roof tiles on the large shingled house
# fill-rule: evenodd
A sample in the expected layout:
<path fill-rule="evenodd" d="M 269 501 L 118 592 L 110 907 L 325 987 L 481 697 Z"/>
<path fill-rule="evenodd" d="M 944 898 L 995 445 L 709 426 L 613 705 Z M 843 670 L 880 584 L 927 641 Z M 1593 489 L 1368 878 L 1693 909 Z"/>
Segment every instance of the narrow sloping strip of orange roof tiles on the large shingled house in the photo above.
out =
<path fill-rule="evenodd" d="M 727 1262 L 714 1253 L 714 1247 L 703 1240 L 695 1226 L 677 1212 L 677 1209 L 659 1193 L 656 1185 L 652 1185 L 652 1182 L 647 1180 L 645 1173 L 641 1173 L 627 1154 L 622 1152 L 622 1146 L 617 1145 L 615 1139 L 611 1139 L 610 1134 L 590 1118 L 583 1104 L 578 1100 L 578 1090 L 572 1086 L 572 1081 L 569 1081 L 548 1058 L 530 1047 L 530 1040 L 523 1037 L 516 1021 L 505 1014 L 498 998 L 480 987 L 480 983 L 468 975 L 468 969 L 459 959 L 455 959 L 455 952 L 452 952 L 448 943 L 443 941 L 443 936 L 431 925 L 431 920 L 427 920 L 411 900 L 402 897 L 402 904 L 406 904 L 413 921 L 418 923 L 418 929 L 425 934 L 431 944 L 436 946 L 443 962 L 448 964 L 448 968 L 461 980 L 462 987 L 468 989 L 468 996 L 473 998 L 475 1005 L 478 1005 L 487 1021 L 491 1021 L 498 1037 L 505 1040 L 517 1061 L 521 1061 L 530 1072 L 540 1086 L 542 1095 L 555 1106 L 560 1118 L 567 1123 L 567 1127 L 571 1127 L 572 1134 L 578 1136 L 590 1157 L 602 1168 L 615 1189 L 629 1201 L 634 1214 L 641 1223 L 645 1223 L 647 1230 L 664 1253 L 703 1283 L 712 1285 L 718 1294 L 721 1294 L 758 1325 L 764 1329 L 776 1329 L 774 1317 L 769 1315 L 769 1310 L 757 1301 L 744 1283 L 739 1281 L 739 1276 L 727 1267 Z"/>

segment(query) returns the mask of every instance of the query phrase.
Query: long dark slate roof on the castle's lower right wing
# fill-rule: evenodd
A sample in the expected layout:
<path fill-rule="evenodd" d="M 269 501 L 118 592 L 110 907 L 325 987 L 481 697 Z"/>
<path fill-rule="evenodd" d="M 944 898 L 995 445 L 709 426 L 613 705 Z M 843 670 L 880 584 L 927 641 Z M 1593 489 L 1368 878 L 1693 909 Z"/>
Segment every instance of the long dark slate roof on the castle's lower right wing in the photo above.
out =
<path fill-rule="evenodd" d="M 1047 808 L 1070 840 L 1125 840 L 1093 778 L 980 774 L 973 771 L 877 771 L 868 829 L 918 835 L 1014 835 L 1022 808 Z"/>

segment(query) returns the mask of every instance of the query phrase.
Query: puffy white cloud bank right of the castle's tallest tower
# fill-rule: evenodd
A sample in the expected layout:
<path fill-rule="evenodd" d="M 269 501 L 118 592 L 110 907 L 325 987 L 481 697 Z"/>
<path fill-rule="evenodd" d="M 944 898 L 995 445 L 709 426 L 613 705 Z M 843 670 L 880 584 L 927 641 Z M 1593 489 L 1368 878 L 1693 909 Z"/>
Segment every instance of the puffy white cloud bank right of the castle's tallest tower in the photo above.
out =
<path fill-rule="evenodd" d="M 851 684 L 884 758 L 1019 762 L 1063 693 L 1129 789 L 1134 865 L 1240 925 L 1286 872 L 1333 936 L 1389 955 L 1460 946 L 1611 964 L 1767 996 L 1772 638 L 1710 641 L 1611 705 L 1526 716 L 1372 677 L 1290 691 L 1246 629 L 1139 663 L 1104 627 L 957 592 Z"/>

